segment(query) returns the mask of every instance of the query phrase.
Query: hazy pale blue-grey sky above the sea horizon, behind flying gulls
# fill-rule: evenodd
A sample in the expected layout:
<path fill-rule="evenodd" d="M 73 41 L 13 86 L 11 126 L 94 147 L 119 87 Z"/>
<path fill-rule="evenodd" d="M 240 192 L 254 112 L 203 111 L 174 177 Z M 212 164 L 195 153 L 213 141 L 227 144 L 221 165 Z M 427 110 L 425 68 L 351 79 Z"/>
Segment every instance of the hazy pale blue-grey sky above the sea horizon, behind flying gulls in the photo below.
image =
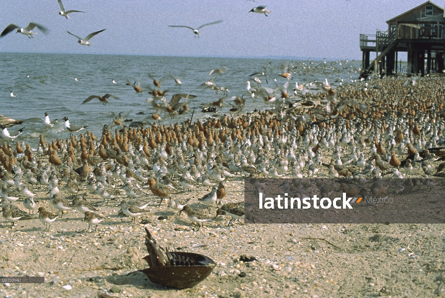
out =
<path fill-rule="evenodd" d="M 49 29 L 28 39 L 11 32 L 0 52 L 84 53 L 210 57 L 304 57 L 361 60 L 359 34 L 387 30 L 386 21 L 423 0 L 63 0 L 71 19 L 58 14 L 57 0 L 1 0 L 0 30 L 36 22 Z M 441 1 L 442 2 L 442 1 Z M 435 2 L 440 6 L 444 3 Z M 266 5 L 264 14 L 248 12 Z M 187 28 L 204 27 L 200 38 Z M 92 45 L 80 37 L 99 31 Z"/>

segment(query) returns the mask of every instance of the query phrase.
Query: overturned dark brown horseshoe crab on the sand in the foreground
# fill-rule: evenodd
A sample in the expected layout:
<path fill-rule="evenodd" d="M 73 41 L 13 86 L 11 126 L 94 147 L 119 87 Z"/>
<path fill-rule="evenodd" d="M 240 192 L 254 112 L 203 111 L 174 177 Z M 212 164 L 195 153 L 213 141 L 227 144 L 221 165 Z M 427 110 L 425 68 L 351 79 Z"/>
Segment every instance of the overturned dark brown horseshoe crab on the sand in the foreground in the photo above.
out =
<path fill-rule="evenodd" d="M 148 256 L 143 259 L 149 268 L 141 270 L 155 284 L 176 289 L 192 288 L 205 280 L 215 262 L 201 254 L 169 251 L 157 245 L 150 231 L 145 228 L 145 245 Z"/>

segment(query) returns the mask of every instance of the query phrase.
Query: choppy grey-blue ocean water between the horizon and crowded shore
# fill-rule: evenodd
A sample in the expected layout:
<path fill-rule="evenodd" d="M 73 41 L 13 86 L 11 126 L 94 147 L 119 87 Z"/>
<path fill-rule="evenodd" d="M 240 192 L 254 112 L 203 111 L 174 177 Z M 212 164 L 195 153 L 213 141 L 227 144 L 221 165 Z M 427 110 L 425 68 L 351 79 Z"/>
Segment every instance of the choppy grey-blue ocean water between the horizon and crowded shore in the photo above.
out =
<path fill-rule="evenodd" d="M 252 99 L 246 90 L 246 81 L 253 76 L 250 74 L 264 72 L 268 75 L 268 84 L 264 77 L 262 86 L 276 88 L 287 81 L 279 74 L 292 74 L 288 93 L 295 88 L 295 81 L 299 84 L 313 81 L 324 81 L 331 85 L 350 83 L 359 76 L 361 62 L 354 61 L 291 61 L 267 59 L 239 59 L 239 58 L 194 58 L 194 57 L 159 57 L 159 56 L 123 56 L 123 55 L 84 55 L 84 54 L 30 54 L 30 53 L 0 53 L 0 114 L 13 119 L 25 120 L 8 130 L 10 132 L 24 127 L 23 134 L 16 141 L 25 141 L 36 148 L 38 137 L 42 134 L 45 139 L 67 138 L 69 133 L 63 129 L 63 117 L 67 116 L 72 125 L 85 126 L 100 136 L 104 124 L 111 124 L 119 112 L 124 113 L 125 119 L 152 123 L 151 114 L 154 109 L 146 102 L 151 97 L 148 94 L 153 81 L 148 74 L 161 80 L 161 90 L 168 90 L 165 96 L 167 102 L 176 93 L 190 93 L 197 95 L 189 99 L 189 107 L 196 107 L 194 120 L 207 119 L 214 115 L 228 114 L 231 106 L 231 96 L 244 96 L 246 106 L 244 111 L 255 108 L 264 109 L 267 106 L 261 98 Z M 211 89 L 200 87 L 212 78 L 212 69 L 225 67 L 223 74 L 218 75 L 214 82 L 218 86 L 228 89 L 226 103 L 218 113 L 203 113 L 198 108 L 203 103 L 213 102 L 225 94 L 217 94 Z M 176 85 L 172 73 L 178 77 L 182 85 Z M 28 77 L 29 76 L 29 77 Z M 75 77 L 79 80 L 76 81 Z M 112 83 L 112 79 L 117 84 Z M 127 79 L 140 82 L 145 90 L 137 94 L 131 86 L 126 85 Z M 251 83 L 257 87 L 256 83 Z M 10 91 L 16 97 L 10 96 Z M 119 99 L 110 99 L 104 106 L 98 99 L 81 104 L 90 95 L 104 95 L 110 93 Z M 182 99 L 183 101 L 184 99 Z M 50 119 L 59 119 L 53 128 L 43 125 L 44 113 Z M 145 115 L 137 113 L 143 112 Z M 163 115 L 160 124 L 180 123 L 190 118 L 191 112 L 171 119 Z M 127 125 L 129 122 L 127 123 Z M 113 128 L 114 129 L 114 128 Z M 86 130 L 84 130 L 86 131 Z M 82 131 L 83 132 L 83 131 Z M 2 140 L 1 141 L 7 141 Z"/>

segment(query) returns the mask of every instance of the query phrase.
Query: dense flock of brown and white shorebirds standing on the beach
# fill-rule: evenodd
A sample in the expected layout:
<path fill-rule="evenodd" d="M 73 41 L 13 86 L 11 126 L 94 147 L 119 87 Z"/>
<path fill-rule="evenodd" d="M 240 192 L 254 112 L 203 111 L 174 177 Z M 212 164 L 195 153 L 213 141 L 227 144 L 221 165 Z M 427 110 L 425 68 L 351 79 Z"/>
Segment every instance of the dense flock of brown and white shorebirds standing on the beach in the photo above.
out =
<path fill-rule="evenodd" d="M 445 177 L 445 90 L 438 78 L 406 82 L 394 77 L 333 89 L 325 81 L 317 93 L 305 93 L 303 87 L 298 99 L 278 90 L 265 111 L 204 123 L 121 126 L 113 134 L 106 125 L 100 138 L 86 132 L 47 142 L 41 135 L 36 151 L 29 144 L 5 142 L 0 149 L 2 216 L 11 227 L 33 219 L 28 214 L 38 207 L 33 189 L 42 187 L 49 196 L 41 200 L 62 215 L 79 210 L 89 228 L 106 220 L 92 205 L 99 198 L 102 204 L 120 200 L 121 212 L 132 221 L 155 198 L 159 205 L 167 200 L 201 227 L 211 219 L 202 208 L 191 207 L 189 192 L 212 188 L 197 202 L 210 212 L 226 196 L 223 183 L 234 179 L 338 178 L 335 183 L 348 196 L 363 178 L 377 181 L 371 191 L 378 196 L 389 191 L 382 177 L 401 181 L 393 195 L 419 183 L 431 188 L 437 185 L 432 178 Z M 15 123 L 5 119 L 0 117 L 3 126 Z M 258 192 L 262 185 L 255 187 Z M 323 191 L 329 196 L 333 187 Z M 18 200 L 29 212 L 13 204 Z M 47 225 L 58 218 L 44 207 L 38 213 Z M 243 219 L 244 202 L 224 204 L 219 215 L 230 216 L 229 224 Z"/>

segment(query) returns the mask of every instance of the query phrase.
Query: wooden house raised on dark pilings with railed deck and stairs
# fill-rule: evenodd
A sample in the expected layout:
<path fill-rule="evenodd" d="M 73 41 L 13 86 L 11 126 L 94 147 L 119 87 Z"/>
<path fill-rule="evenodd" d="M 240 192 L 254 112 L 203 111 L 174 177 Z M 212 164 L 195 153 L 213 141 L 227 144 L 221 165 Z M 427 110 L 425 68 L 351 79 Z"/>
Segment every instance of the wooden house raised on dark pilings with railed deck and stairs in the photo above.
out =
<path fill-rule="evenodd" d="M 445 52 L 444 8 L 427 1 L 388 21 L 386 32 L 360 34 L 362 72 L 360 77 L 370 74 L 391 75 L 398 71 L 399 52 L 408 53 L 407 74 L 443 73 Z M 376 59 L 369 60 L 370 53 Z"/>

